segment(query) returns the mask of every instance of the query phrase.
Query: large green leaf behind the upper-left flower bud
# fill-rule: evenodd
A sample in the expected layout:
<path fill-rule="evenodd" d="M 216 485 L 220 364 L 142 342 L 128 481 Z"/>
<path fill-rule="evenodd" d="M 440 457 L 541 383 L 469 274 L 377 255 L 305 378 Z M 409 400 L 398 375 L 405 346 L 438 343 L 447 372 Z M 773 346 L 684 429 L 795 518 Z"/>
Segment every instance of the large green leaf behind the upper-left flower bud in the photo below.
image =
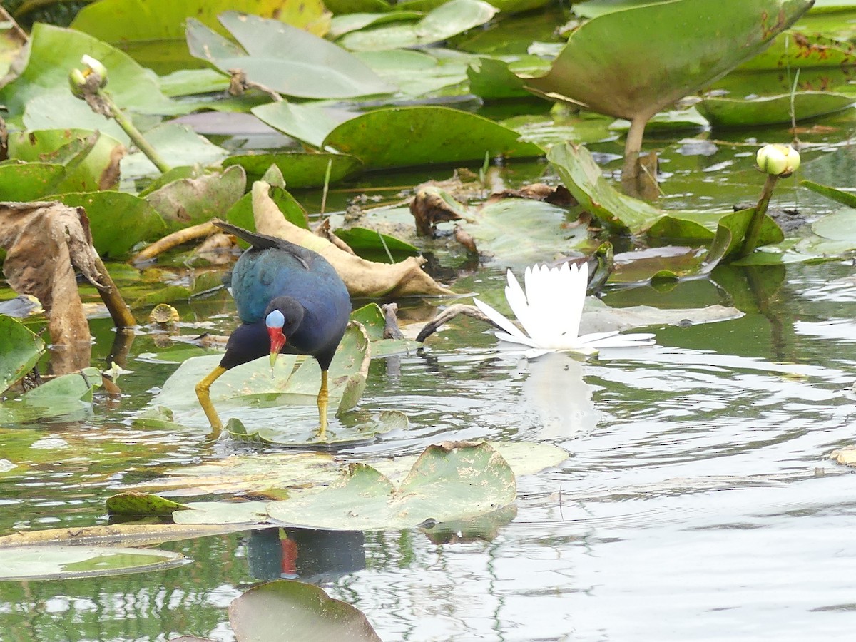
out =
<path fill-rule="evenodd" d="M 21 114 L 24 105 L 41 93 L 58 89 L 68 92 L 68 72 L 80 68 L 84 54 L 104 63 L 110 72 L 110 94 L 120 107 L 152 114 L 175 111 L 175 105 L 160 92 L 158 77 L 128 54 L 86 33 L 41 22 L 33 26 L 27 67 L 0 89 L 0 103 L 6 104 L 10 113 Z"/>

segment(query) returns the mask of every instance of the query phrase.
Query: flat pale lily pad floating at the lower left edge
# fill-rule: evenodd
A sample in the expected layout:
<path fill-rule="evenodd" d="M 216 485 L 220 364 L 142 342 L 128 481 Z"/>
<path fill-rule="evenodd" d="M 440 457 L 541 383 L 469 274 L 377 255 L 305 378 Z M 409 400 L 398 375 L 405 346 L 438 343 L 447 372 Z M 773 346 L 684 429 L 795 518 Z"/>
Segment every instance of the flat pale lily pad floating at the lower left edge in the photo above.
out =
<path fill-rule="evenodd" d="M 44 544 L 0 549 L 0 580 L 68 580 L 158 572 L 185 563 L 169 550 Z"/>

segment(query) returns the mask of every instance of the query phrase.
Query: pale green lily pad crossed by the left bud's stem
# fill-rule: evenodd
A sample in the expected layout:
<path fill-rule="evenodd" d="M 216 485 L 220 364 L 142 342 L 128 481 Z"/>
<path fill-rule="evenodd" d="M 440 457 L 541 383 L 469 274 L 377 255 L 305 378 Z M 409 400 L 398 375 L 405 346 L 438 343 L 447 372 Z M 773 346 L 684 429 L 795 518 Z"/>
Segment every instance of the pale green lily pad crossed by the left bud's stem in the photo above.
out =
<path fill-rule="evenodd" d="M 196 134 L 187 125 L 166 122 L 147 130 L 143 136 L 155 148 L 163 161 L 172 167 L 186 165 L 213 165 L 229 155 L 229 152 Z M 134 152 L 122 158 L 122 177 L 142 178 L 160 175 L 160 170 L 143 152 Z"/>

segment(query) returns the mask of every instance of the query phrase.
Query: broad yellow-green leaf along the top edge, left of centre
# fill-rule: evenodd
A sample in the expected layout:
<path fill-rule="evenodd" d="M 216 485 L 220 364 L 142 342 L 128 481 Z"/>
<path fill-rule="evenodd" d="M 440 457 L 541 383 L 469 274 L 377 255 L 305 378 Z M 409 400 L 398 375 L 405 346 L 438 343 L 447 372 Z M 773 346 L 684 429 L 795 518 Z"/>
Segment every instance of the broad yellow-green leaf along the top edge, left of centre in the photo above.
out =
<path fill-rule="evenodd" d="M 276 18 L 294 27 L 310 27 L 312 33 L 324 35 L 326 21 L 320 0 L 98 0 L 80 9 L 71 27 L 113 45 L 152 40 L 183 42 L 188 17 L 227 35 L 217 15 L 229 9 Z"/>

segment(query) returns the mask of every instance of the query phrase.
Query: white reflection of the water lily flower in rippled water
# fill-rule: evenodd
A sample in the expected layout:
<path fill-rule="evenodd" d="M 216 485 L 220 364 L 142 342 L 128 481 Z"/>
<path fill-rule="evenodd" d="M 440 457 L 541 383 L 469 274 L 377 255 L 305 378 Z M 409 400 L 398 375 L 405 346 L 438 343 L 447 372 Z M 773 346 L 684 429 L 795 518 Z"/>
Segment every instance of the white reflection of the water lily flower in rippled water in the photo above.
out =
<path fill-rule="evenodd" d="M 538 437 L 577 437 L 591 431 L 600 413 L 591 401 L 591 386 L 583 381 L 583 366 L 568 354 L 551 352 L 528 360 L 529 377 L 522 392 L 527 407 L 538 413 Z"/>

